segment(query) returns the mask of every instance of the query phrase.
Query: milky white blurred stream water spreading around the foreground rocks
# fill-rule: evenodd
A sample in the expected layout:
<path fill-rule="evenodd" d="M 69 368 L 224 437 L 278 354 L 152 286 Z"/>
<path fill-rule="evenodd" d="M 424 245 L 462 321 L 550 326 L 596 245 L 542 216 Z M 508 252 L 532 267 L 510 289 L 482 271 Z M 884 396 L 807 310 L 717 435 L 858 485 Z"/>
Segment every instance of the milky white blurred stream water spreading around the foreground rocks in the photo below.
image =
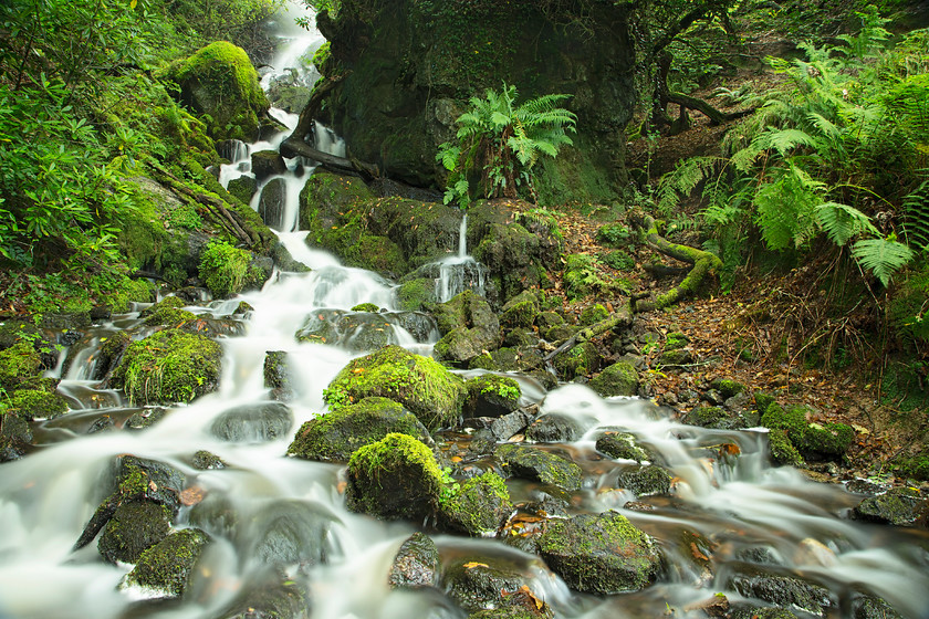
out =
<path fill-rule="evenodd" d="M 295 216 L 289 221 L 295 222 Z M 145 431 L 86 434 L 103 415 L 119 426 L 139 411 L 128 407 L 121 394 L 101 390 L 90 378 L 96 347 L 116 331 L 137 325 L 137 314 L 115 316 L 112 323 L 95 327 L 83 347 L 70 352 L 70 364 L 60 371 L 65 373 L 61 391 L 71 399 L 72 411 L 39 424 L 36 441 L 42 449 L 36 453 L 0 468 L 0 618 L 222 616 L 222 609 L 240 591 L 262 583 L 264 573 L 254 557 L 254 539 L 262 534 L 257 523 L 294 505 L 330 523 L 319 539 L 311 541 L 325 559 L 304 562 L 290 570 L 310 591 L 313 619 L 466 617 L 440 594 L 388 588 L 392 559 L 418 528 L 416 523 L 379 522 L 349 513 L 340 493 L 341 466 L 284 455 L 299 424 L 325 410 L 323 389 L 361 354 L 351 345 L 351 337 L 343 346 L 331 346 L 298 343 L 294 333 L 307 317 L 321 312 L 347 315 L 363 302 L 387 311 L 395 305 L 390 282 L 346 269 L 331 255 L 307 248 L 305 232 L 295 231 L 295 223 L 284 223 L 281 229 L 281 239 L 298 261 L 312 269 L 310 273 L 275 273 L 262 291 L 213 302 L 206 308 L 191 307 L 215 316 L 230 315 L 240 301 L 254 308 L 247 318 L 228 319 L 238 328 L 221 339 L 223 375 L 218 392 L 171 408 L 164 420 Z M 468 260 L 463 244 L 455 260 Z M 436 334 L 415 337 L 397 326 L 392 337 L 428 354 Z M 210 424 L 219 413 L 268 400 L 262 366 L 269 350 L 289 354 L 296 385 L 295 397 L 289 402 L 294 413 L 289 438 L 267 443 L 218 440 Z M 643 591 L 599 598 L 573 594 L 541 559 L 495 539 L 434 535 L 443 562 L 466 555 L 507 560 L 523 573 L 534 595 L 546 600 L 557 617 L 662 617 L 668 610 L 676 617 L 703 617 L 688 610 L 689 605 L 716 592 L 738 599 L 729 578 L 751 563 L 747 557 L 755 556 L 752 553 L 763 553 L 776 564 L 779 574 L 803 576 L 828 588 L 837 604 L 829 610 L 831 617 L 852 616 L 848 600 L 854 591 L 884 597 L 912 619 L 929 616 L 927 536 L 845 520 L 860 497 L 841 486 L 808 482 L 790 468 L 770 468 L 763 432 L 680 426 L 647 402 L 605 400 L 580 385 L 545 392 L 530 379 L 519 378 L 525 403 L 537 403 L 544 413 L 571 416 L 584 426 L 581 439 L 559 445 L 585 471 L 583 489 L 570 496 L 571 510 L 619 510 L 657 539 L 667 567 L 659 581 Z M 658 454 L 675 478 L 669 496 L 635 497 L 615 490 L 617 473 L 634 463 L 605 459 L 595 451 L 594 440 L 604 428 L 624 428 Z M 720 445 L 735 445 L 727 451 L 740 455 L 723 458 Z M 199 450 L 216 453 L 229 466 L 195 469 L 191 460 Z M 101 480 L 114 458 L 125 453 L 176 466 L 188 475 L 189 484 L 203 490 L 203 505 L 226 505 L 240 514 L 234 531 L 209 531 L 215 542 L 182 604 L 138 606 L 135 602 L 146 591 L 117 590 L 131 566 L 103 563 L 95 544 L 72 552 L 103 499 Z M 532 497 L 537 490 L 529 483 L 510 483 L 514 500 Z M 629 501 L 636 499 L 650 511 L 628 508 L 635 505 Z M 191 517 L 190 510 L 182 511 L 177 525 L 188 525 Z M 692 539 L 682 536 L 693 534 L 712 545 L 710 571 L 693 562 L 701 550 L 681 542 Z"/>

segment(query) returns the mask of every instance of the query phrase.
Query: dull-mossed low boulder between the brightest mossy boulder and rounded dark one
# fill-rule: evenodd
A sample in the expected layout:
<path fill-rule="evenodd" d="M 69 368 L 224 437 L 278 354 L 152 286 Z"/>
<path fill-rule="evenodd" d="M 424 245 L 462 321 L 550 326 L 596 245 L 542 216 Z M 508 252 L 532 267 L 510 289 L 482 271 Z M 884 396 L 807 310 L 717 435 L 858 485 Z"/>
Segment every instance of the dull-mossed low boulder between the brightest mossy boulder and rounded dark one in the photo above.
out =
<path fill-rule="evenodd" d="M 426 427 L 401 405 L 387 398 L 365 398 L 303 423 L 288 454 L 322 462 L 347 462 L 358 448 L 393 432 L 434 445 Z"/>

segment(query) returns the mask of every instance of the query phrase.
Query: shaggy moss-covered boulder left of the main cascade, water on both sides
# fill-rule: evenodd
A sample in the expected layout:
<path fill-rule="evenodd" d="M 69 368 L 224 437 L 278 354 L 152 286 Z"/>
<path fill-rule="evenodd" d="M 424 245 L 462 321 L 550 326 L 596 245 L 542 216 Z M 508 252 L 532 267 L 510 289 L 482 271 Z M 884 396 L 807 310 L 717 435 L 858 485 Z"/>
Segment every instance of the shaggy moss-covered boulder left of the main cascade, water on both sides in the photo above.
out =
<path fill-rule="evenodd" d="M 111 385 L 140 405 L 189 402 L 219 386 L 222 347 L 201 335 L 159 331 L 126 349 Z"/>

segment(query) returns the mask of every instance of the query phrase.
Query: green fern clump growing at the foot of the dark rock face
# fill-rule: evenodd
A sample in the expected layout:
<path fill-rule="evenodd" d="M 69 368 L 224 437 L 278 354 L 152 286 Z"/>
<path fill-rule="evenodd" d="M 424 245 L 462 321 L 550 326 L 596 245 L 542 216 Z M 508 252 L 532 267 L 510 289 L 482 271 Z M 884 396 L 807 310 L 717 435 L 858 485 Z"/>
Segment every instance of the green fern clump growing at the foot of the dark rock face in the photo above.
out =
<path fill-rule="evenodd" d="M 515 198 L 524 189 L 534 196 L 532 168 L 542 155 L 555 157 L 572 144 L 574 113 L 556 107 L 568 95 L 543 95 L 516 105 L 516 87 L 503 84 L 458 117 L 457 143 L 439 147 L 436 160 L 448 170 L 445 202 L 467 208 L 472 196 Z M 477 189 L 473 187 L 477 186 Z"/>

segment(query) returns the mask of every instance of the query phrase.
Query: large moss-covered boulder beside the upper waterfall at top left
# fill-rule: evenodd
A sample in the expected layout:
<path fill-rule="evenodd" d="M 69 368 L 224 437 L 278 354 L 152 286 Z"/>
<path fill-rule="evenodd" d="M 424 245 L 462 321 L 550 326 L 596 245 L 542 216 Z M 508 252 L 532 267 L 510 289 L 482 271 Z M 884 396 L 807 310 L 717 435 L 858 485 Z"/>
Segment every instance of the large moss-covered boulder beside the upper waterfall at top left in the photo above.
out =
<path fill-rule="evenodd" d="M 244 50 L 217 41 L 170 65 L 165 76 L 180 86 L 181 103 L 208 117 L 215 139 L 258 138 L 270 104 Z"/>

